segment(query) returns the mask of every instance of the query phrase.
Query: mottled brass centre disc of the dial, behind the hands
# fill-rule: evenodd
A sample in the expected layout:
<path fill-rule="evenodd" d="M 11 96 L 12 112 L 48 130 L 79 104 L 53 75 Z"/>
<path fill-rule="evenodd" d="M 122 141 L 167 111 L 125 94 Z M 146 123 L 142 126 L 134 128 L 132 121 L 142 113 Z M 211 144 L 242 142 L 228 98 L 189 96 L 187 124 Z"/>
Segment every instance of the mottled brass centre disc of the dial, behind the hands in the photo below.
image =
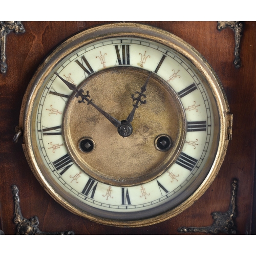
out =
<path fill-rule="evenodd" d="M 122 121 L 133 109 L 131 95 L 140 90 L 147 77 L 146 70 L 113 67 L 91 75 L 78 89 L 89 91 L 90 100 Z M 93 106 L 79 103 L 80 97 L 75 94 L 69 98 L 62 123 L 63 137 L 69 155 L 89 176 L 114 186 L 139 185 L 155 179 L 176 161 L 186 132 L 180 99 L 167 82 L 154 74 L 144 94 L 146 104 L 139 106 L 131 123 L 136 132 L 125 138 Z M 156 150 L 159 131 L 173 141 L 166 152 Z M 92 152 L 80 150 L 83 137 L 94 141 Z"/>

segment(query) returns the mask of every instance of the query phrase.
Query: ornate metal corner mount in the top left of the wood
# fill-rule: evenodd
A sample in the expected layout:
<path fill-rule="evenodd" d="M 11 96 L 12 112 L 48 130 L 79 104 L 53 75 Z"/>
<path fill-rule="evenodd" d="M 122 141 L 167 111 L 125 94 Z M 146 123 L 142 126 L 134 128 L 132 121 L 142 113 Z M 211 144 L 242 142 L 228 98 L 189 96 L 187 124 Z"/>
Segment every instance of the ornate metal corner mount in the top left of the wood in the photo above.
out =
<path fill-rule="evenodd" d="M 0 47 L 1 47 L 1 72 L 3 74 L 7 71 L 6 64 L 6 35 L 11 31 L 15 33 L 24 33 L 25 29 L 20 22 L 0 22 Z"/>

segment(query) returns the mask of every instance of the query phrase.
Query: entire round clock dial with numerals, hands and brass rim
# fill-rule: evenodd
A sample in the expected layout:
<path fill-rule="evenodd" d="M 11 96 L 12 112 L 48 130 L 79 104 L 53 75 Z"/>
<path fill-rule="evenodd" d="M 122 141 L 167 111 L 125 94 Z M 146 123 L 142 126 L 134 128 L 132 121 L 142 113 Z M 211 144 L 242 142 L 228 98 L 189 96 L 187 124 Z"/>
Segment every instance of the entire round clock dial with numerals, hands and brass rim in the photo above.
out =
<path fill-rule="evenodd" d="M 35 176 L 63 206 L 103 224 L 177 215 L 212 182 L 227 146 L 214 71 L 181 39 L 147 26 L 70 38 L 38 69 L 25 102 Z"/>

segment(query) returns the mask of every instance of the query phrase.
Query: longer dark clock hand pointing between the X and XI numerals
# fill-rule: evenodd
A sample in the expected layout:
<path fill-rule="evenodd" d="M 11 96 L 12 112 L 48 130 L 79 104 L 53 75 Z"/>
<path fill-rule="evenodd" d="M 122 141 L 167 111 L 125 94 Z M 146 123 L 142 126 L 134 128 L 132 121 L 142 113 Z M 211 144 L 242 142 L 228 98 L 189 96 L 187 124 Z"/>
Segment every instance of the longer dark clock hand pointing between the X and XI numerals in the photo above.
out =
<path fill-rule="evenodd" d="M 116 118 L 114 118 L 113 116 L 111 116 L 110 114 L 106 113 L 104 110 L 102 110 L 98 105 L 96 105 L 95 103 L 92 102 L 92 99 L 88 99 L 88 97 L 90 98 L 90 95 L 89 95 L 89 91 L 87 91 L 87 94 L 86 95 L 83 95 L 83 90 L 80 89 L 78 90 L 76 88 L 76 86 L 73 84 L 73 83 L 70 83 L 69 81 L 63 79 L 62 77 L 60 77 L 57 73 L 55 73 L 55 75 L 62 81 L 66 84 L 66 86 L 76 92 L 76 97 L 78 98 L 79 96 L 81 97 L 81 100 L 78 100 L 79 103 L 83 102 L 83 103 L 86 103 L 84 100 L 86 100 L 89 104 L 91 104 L 96 110 L 98 110 L 106 119 L 108 119 L 112 124 L 114 124 L 116 127 L 120 127 L 121 126 L 121 122 L 118 121 Z"/>

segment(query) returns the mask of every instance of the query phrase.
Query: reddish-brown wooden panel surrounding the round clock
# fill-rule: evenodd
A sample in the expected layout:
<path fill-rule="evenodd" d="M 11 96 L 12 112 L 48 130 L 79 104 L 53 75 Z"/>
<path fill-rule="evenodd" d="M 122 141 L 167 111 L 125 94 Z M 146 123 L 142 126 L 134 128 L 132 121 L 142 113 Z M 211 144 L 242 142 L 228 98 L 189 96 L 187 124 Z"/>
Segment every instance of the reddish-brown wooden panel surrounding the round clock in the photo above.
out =
<path fill-rule="evenodd" d="M 39 63 L 61 41 L 103 22 L 23 22 L 24 34 L 7 35 L 7 65 L 0 74 L 0 229 L 15 233 L 11 186 L 19 188 L 25 218 L 36 215 L 42 231 L 73 230 L 76 234 L 179 234 L 180 226 L 208 226 L 211 212 L 229 207 L 231 182 L 239 181 L 238 234 L 256 233 L 253 184 L 255 166 L 256 23 L 245 22 L 241 43 L 242 67 L 234 68 L 234 33 L 217 30 L 217 22 L 140 22 L 167 30 L 196 48 L 215 69 L 234 115 L 233 139 L 220 172 L 206 193 L 182 214 L 163 223 L 141 228 L 104 226 L 75 216 L 57 204 L 33 176 L 22 150 L 12 143 L 20 105 Z M 255 193 L 255 192 L 254 192 Z M 254 222 L 253 222 L 254 221 Z M 251 231 L 252 230 L 252 231 Z"/>

